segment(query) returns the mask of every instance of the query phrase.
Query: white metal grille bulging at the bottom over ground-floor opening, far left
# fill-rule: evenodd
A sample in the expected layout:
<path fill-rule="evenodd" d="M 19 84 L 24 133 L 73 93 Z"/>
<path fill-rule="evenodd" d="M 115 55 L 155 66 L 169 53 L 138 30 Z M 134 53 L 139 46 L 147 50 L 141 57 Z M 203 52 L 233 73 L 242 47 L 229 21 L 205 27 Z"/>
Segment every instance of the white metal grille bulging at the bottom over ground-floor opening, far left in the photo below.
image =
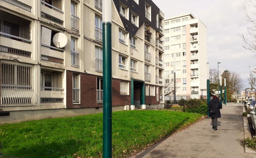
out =
<path fill-rule="evenodd" d="M 34 67 L 13 61 L 1 61 L 1 106 L 35 106 Z"/>

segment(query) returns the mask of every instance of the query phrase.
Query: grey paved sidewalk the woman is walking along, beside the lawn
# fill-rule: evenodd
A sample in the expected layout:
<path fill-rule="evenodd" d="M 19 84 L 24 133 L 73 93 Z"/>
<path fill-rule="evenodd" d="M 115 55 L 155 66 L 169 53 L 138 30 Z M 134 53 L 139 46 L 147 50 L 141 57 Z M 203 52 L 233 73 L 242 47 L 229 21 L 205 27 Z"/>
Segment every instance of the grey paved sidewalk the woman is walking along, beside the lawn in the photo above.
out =
<path fill-rule="evenodd" d="M 245 153 L 242 104 L 223 105 L 218 130 L 212 129 L 211 118 L 206 118 L 188 129 L 133 155 L 131 158 L 256 158 Z"/>

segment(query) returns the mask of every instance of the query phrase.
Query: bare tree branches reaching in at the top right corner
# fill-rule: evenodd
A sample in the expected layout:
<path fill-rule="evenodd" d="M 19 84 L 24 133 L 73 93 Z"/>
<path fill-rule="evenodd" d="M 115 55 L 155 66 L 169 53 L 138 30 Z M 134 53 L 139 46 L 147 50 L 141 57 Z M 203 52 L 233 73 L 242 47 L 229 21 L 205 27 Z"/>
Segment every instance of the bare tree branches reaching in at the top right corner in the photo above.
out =
<path fill-rule="evenodd" d="M 242 8 L 244 10 L 245 19 L 250 23 L 250 26 L 246 27 L 248 36 L 244 34 L 239 34 L 239 36 L 245 43 L 243 47 L 256 53 L 256 3 L 254 0 L 244 0 Z M 256 57 L 256 55 L 253 56 Z"/>

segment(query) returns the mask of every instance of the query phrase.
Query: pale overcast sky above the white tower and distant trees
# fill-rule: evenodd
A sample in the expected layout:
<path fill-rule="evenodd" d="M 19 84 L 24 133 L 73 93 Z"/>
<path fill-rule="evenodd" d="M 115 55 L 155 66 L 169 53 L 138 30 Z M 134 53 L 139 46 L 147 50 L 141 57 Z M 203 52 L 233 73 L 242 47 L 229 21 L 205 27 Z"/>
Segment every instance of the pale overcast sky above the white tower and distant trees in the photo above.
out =
<path fill-rule="evenodd" d="M 250 25 L 244 18 L 242 3 L 244 0 L 153 0 L 164 13 L 171 18 L 192 13 L 207 27 L 208 62 L 210 69 L 220 68 L 239 72 L 245 87 L 249 87 L 249 66 L 256 68 L 256 58 L 251 51 L 245 50 L 238 33 L 246 33 Z"/>

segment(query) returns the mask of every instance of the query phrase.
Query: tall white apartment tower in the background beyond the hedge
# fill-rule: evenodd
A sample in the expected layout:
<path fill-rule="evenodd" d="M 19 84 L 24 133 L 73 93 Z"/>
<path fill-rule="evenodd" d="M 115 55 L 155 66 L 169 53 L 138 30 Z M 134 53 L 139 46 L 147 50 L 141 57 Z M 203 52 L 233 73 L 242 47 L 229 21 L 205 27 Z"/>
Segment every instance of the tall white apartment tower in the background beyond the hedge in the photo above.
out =
<path fill-rule="evenodd" d="M 207 28 L 191 13 L 164 20 L 165 93 L 176 100 L 206 97 Z M 175 80 L 174 80 L 175 73 Z"/>

